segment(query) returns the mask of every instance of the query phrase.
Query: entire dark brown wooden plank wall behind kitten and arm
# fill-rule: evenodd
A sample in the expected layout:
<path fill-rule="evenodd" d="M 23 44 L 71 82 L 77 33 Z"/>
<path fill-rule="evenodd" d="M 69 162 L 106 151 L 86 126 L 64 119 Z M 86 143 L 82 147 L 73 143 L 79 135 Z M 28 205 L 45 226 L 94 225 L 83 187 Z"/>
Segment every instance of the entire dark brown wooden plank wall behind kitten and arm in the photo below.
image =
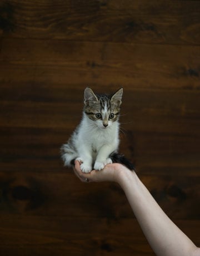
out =
<path fill-rule="evenodd" d="M 0 1 L 0 254 L 154 255 L 117 184 L 59 147 L 83 90 L 123 86 L 121 149 L 200 245 L 200 1 Z"/>

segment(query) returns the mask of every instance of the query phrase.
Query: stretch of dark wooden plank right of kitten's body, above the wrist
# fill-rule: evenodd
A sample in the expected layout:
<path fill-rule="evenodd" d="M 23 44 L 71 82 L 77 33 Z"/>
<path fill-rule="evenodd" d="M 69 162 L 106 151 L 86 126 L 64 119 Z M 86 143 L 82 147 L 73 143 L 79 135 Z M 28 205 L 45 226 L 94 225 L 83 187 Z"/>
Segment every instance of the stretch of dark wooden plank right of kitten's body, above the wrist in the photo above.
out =
<path fill-rule="evenodd" d="M 135 163 L 139 173 L 199 176 L 199 136 L 130 130 L 127 134 L 121 141 L 121 152 Z"/>

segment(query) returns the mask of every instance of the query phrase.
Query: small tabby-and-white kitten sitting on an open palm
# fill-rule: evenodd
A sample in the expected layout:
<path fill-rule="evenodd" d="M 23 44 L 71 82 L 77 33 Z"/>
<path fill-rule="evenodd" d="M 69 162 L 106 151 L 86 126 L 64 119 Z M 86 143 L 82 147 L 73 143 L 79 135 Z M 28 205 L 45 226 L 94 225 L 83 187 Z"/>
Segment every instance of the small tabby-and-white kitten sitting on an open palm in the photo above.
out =
<path fill-rule="evenodd" d="M 83 117 L 67 144 L 61 147 L 64 166 L 72 166 L 75 159 L 81 162 L 83 173 L 102 170 L 114 162 L 133 166 L 123 155 L 118 155 L 119 111 L 123 88 L 113 95 L 94 94 L 84 90 Z"/>

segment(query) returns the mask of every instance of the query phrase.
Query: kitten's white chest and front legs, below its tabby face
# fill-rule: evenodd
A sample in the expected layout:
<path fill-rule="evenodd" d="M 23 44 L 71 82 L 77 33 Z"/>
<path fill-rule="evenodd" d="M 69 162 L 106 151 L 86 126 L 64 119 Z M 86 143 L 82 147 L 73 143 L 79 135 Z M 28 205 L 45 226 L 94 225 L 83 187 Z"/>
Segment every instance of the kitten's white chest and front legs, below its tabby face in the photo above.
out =
<path fill-rule="evenodd" d="M 95 163 L 94 168 L 97 170 L 112 163 L 109 155 L 118 149 L 118 131 L 117 121 L 106 128 L 101 128 L 87 116 L 83 116 L 76 138 L 76 147 L 79 160 L 83 161 L 81 168 L 84 173 L 91 171 L 92 163 Z"/>

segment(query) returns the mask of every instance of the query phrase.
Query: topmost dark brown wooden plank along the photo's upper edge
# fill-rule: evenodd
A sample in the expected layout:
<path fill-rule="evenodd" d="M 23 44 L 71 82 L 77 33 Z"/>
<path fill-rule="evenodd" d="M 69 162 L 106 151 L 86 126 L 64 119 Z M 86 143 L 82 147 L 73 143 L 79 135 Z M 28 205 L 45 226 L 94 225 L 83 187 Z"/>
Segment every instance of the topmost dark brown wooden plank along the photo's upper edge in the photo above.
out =
<path fill-rule="evenodd" d="M 9 0 L 1 4 L 3 35 L 21 38 L 197 44 L 198 1 Z"/>

